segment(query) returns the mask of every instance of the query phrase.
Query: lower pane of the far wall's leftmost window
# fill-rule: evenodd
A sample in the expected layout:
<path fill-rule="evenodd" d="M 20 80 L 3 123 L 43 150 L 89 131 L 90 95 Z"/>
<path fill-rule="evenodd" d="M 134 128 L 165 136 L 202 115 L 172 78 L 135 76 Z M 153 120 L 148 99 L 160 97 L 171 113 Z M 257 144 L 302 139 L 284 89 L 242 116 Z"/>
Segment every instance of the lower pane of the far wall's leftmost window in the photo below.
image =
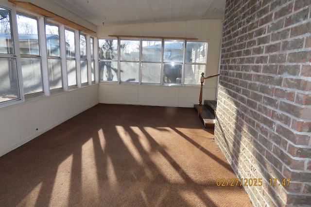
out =
<path fill-rule="evenodd" d="M 100 81 L 118 81 L 117 62 L 99 62 Z"/>

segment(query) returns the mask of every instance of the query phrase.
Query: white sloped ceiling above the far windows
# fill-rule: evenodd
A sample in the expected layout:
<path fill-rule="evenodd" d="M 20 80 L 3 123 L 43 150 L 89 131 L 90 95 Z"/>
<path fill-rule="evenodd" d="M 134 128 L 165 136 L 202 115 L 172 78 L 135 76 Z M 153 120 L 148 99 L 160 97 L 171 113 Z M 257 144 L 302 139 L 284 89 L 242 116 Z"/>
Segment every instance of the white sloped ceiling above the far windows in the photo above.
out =
<path fill-rule="evenodd" d="M 94 25 L 224 19 L 225 0 L 50 0 Z"/>

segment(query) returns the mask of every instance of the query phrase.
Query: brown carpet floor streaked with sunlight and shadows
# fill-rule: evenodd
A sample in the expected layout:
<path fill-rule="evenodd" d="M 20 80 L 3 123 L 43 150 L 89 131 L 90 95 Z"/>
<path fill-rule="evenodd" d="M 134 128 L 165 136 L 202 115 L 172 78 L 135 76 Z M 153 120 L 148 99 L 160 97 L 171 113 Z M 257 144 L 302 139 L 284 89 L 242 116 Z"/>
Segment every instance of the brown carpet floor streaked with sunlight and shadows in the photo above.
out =
<path fill-rule="evenodd" d="M 191 108 L 98 104 L 0 157 L 0 207 L 251 207 Z"/>

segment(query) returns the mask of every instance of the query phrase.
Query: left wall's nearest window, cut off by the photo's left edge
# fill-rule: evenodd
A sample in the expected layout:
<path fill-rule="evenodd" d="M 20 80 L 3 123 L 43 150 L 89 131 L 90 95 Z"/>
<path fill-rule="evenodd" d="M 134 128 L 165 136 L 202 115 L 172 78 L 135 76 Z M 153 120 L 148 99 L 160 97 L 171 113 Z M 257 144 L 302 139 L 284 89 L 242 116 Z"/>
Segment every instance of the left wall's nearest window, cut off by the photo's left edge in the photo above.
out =
<path fill-rule="evenodd" d="M 0 103 L 20 99 L 17 59 L 11 29 L 11 11 L 0 7 Z"/>

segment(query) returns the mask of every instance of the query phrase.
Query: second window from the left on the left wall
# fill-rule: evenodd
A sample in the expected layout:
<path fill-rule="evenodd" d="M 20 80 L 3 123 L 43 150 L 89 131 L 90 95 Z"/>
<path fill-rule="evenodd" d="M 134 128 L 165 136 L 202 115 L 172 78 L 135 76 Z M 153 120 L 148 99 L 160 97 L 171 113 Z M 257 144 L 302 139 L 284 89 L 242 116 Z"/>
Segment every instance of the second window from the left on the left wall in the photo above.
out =
<path fill-rule="evenodd" d="M 17 14 L 17 32 L 24 94 L 43 92 L 37 20 Z"/>

